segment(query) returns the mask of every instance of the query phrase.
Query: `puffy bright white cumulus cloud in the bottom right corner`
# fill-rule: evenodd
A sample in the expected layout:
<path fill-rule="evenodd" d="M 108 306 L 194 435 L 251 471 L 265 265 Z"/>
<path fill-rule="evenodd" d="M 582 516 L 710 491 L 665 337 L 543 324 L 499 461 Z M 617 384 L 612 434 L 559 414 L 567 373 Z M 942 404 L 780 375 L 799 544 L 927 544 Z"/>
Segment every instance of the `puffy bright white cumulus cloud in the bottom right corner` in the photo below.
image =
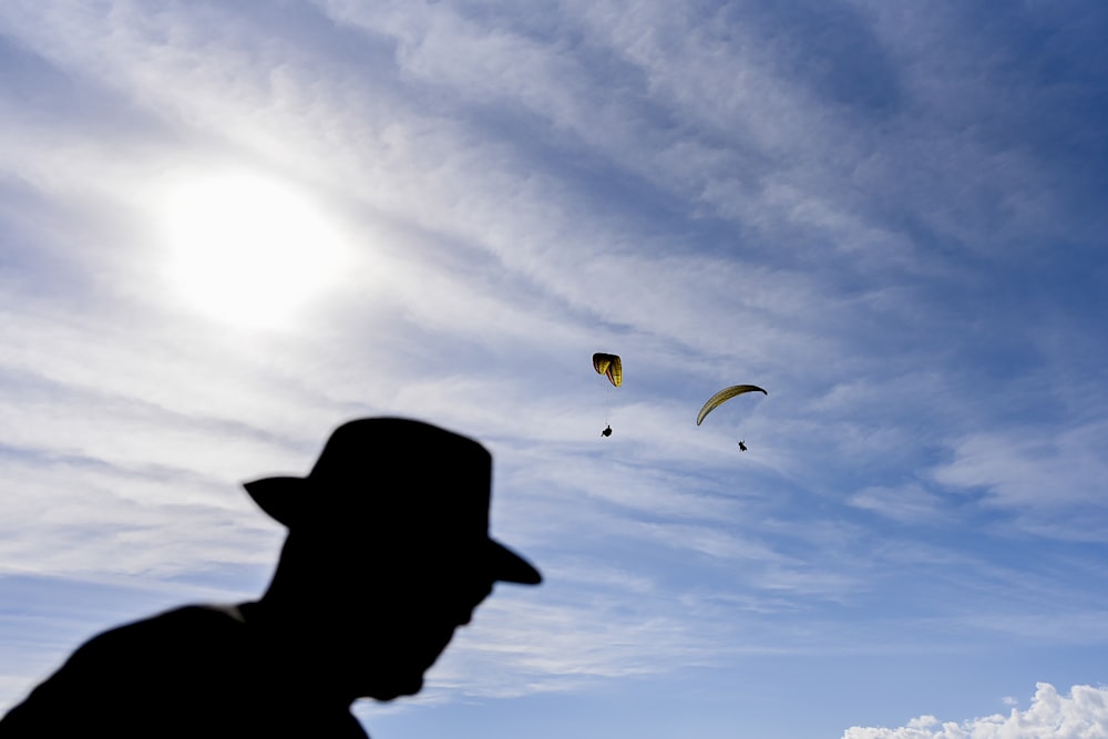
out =
<path fill-rule="evenodd" d="M 895 728 L 854 726 L 842 739 L 1097 739 L 1108 737 L 1108 686 L 1075 685 L 1064 696 L 1038 682 L 1027 710 L 962 721 L 920 716 Z"/>

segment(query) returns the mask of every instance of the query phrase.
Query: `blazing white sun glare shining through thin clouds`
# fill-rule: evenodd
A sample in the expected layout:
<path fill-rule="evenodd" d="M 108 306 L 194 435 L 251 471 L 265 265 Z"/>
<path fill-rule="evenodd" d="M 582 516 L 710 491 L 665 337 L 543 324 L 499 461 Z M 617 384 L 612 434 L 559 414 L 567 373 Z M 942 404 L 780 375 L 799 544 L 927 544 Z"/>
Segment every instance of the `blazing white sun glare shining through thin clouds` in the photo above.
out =
<path fill-rule="evenodd" d="M 168 276 L 192 309 L 246 328 L 287 325 L 341 273 L 341 239 L 312 202 L 250 174 L 196 177 L 165 202 Z"/>

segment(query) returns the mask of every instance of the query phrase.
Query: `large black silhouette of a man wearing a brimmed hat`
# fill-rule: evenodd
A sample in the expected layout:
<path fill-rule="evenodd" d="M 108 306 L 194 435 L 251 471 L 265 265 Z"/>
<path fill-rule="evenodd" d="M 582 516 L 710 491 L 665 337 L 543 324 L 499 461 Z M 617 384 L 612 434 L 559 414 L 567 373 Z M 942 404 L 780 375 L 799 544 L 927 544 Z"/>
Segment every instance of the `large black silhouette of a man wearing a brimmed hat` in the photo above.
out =
<path fill-rule="evenodd" d="M 256 602 L 192 605 L 90 639 L 0 720 L 17 737 L 367 737 L 358 698 L 413 695 L 496 582 L 492 458 L 407 419 L 339 427 L 306 478 L 245 484 L 288 527 Z"/>

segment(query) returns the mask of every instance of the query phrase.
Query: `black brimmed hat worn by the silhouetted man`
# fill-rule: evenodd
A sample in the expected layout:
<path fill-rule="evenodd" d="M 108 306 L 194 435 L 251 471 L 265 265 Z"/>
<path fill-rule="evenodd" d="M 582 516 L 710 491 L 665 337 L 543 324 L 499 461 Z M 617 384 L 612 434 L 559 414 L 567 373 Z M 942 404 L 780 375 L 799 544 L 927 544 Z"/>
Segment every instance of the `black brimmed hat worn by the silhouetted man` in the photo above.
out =
<path fill-rule="evenodd" d="M 430 423 L 349 421 L 331 433 L 306 478 L 243 486 L 289 531 L 365 524 L 377 541 L 465 562 L 495 581 L 542 582 L 531 563 L 489 536 L 492 455 L 473 439 Z"/>

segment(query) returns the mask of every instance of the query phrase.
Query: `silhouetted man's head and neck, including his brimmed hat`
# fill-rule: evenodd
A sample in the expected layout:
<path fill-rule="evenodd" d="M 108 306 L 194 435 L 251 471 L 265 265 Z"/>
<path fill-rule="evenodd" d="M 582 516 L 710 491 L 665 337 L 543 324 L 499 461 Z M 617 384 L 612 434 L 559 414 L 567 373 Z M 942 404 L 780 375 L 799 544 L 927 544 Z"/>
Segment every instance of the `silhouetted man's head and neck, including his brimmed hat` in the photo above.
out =
<path fill-rule="evenodd" d="M 245 484 L 289 535 L 244 614 L 350 699 L 417 692 L 493 583 L 542 581 L 489 536 L 491 484 L 472 439 L 406 419 L 339 427 L 306 478 Z"/>

